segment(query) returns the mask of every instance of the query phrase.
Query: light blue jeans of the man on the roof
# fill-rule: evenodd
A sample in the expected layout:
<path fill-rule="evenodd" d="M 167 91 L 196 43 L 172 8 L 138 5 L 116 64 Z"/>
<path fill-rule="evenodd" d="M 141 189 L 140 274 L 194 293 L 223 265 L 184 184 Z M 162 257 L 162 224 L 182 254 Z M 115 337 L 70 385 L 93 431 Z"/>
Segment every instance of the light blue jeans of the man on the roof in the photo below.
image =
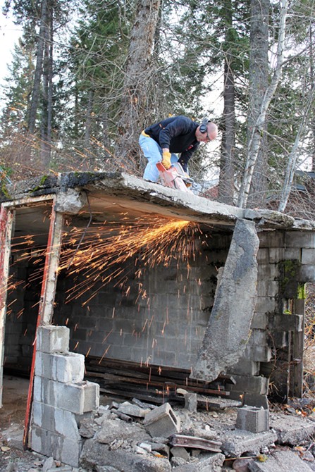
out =
<path fill-rule="evenodd" d="M 140 135 L 139 144 L 143 151 L 144 157 L 147 158 L 148 163 L 144 169 L 143 178 L 144 180 L 150 180 L 150 182 L 157 182 L 159 179 L 159 170 L 156 168 L 156 163 L 162 160 L 162 148 L 157 144 L 152 137 Z M 177 162 L 178 156 L 176 154 L 171 155 L 171 163 Z"/>

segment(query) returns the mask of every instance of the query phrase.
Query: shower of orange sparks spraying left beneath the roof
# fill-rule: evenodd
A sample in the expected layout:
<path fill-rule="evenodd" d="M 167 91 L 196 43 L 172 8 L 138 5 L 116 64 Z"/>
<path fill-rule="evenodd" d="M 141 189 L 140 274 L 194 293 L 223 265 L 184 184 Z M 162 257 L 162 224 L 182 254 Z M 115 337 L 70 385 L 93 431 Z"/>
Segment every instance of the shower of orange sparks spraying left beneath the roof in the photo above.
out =
<path fill-rule="evenodd" d="M 105 221 L 87 229 L 73 226 L 64 233 L 58 273 L 65 271 L 74 283 L 67 292 L 66 302 L 83 297 L 82 305 L 85 305 L 109 282 L 121 287 L 128 296 L 128 277 L 138 280 L 138 298 L 146 298 L 140 278 L 147 268 L 167 267 L 177 261 L 187 263 L 187 272 L 190 271 L 190 258 L 197 251 L 195 242 L 202 235 L 197 223 L 157 216 L 131 219 L 126 213 L 121 217 L 120 223 Z M 85 232 L 83 239 L 82 232 Z M 42 280 L 46 256 L 45 247 L 32 249 L 34 243 L 34 237 L 29 235 L 14 238 L 12 244 L 16 263 L 32 260 L 38 266 L 28 284 Z M 9 279 L 8 292 L 23 282 Z"/>

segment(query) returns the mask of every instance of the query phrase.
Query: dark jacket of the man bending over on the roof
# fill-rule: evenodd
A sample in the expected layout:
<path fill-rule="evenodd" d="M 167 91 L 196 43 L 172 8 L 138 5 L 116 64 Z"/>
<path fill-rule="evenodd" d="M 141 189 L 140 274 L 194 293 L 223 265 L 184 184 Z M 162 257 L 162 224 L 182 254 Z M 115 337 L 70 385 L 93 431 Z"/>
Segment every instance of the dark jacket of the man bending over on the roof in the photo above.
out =
<path fill-rule="evenodd" d="M 199 124 L 187 116 L 172 116 L 149 126 L 144 132 L 152 137 L 161 148 L 180 153 L 178 162 L 187 172 L 187 163 L 199 146 L 195 132 Z"/>

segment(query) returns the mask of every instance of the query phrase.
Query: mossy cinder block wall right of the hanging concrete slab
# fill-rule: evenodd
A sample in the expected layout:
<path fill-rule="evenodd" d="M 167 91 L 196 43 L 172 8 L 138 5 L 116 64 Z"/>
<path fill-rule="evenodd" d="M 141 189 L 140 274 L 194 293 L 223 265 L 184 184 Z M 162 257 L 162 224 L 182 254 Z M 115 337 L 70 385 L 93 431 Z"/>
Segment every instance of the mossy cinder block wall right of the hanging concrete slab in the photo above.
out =
<path fill-rule="evenodd" d="M 229 373 L 237 380 L 232 398 L 245 395 L 247 404 L 266 406 L 263 397 L 268 393 L 282 399 L 302 395 L 304 283 L 314 281 L 315 236 L 275 230 L 260 232 L 259 239 L 252 334 L 244 356 Z"/>

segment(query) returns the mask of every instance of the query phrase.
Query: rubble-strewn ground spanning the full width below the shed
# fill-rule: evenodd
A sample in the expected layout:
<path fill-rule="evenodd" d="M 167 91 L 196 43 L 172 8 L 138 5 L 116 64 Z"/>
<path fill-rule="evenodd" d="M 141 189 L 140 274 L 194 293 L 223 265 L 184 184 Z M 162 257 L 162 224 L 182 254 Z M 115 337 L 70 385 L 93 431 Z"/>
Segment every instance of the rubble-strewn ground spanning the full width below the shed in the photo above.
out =
<path fill-rule="evenodd" d="M 313 399 L 271 404 L 268 418 L 254 407 L 222 403 L 199 410 L 192 403 L 156 406 L 102 397 L 98 411 L 80 421 L 80 468 L 23 451 L 23 414 L 15 422 L 13 409 L 1 409 L 0 472 L 315 471 Z M 242 409 L 249 418 L 257 414 L 257 432 L 237 428 Z"/>

